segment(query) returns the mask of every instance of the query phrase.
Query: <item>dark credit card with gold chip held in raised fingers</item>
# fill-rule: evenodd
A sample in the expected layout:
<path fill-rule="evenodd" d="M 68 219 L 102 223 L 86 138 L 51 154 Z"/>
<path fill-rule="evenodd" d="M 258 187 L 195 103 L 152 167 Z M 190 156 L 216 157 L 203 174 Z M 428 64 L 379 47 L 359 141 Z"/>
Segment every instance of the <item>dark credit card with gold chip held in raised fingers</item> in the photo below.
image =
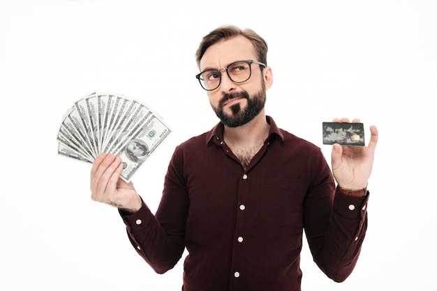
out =
<path fill-rule="evenodd" d="M 362 123 L 323 123 L 323 144 L 339 143 L 341 146 L 365 146 Z"/>

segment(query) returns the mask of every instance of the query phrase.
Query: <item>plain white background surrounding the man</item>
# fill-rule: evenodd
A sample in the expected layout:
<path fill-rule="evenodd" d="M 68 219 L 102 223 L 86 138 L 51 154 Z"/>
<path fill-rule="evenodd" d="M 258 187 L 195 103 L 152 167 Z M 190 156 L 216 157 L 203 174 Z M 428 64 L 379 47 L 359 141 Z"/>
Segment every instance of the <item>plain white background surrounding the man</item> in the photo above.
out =
<path fill-rule="evenodd" d="M 218 121 L 195 50 L 222 24 L 269 43 L 267 114 L 325 152 L 321 123 L 360 118 L 380 141 L 369 230 L 334 283 L 302 250 L 302 290 L 431 290 L 436 282 L 436 1 L 0 0 L 0 289 L 180 290 L 158 275 L 117 210 L 91 200 L 91 166 L 57 155 L 63 114 L 91 91 L 124 93 L 173 134 L 133 182 L 154 211 L 177 144 Z"/>

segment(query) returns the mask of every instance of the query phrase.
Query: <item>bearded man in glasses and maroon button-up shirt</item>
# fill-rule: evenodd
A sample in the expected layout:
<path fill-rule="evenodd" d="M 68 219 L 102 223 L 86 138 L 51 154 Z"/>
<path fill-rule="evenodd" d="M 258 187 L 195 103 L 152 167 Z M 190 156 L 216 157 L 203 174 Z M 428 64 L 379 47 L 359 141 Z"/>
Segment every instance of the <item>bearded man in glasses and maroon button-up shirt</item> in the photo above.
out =
<path fill-rule="evenodd" d="M 300 290 L 303 230 L 320 269 L 345 280 L 366 231 L 376 127 L 367 147 L 334 144 L 336 187 L 320 148 L 266 116 L 273 77 L 265 40 L 223 26 L 196 56 L 196 77 L 221 122 L 177 146 L 156 214 L 119 179 L 113 155 L 94 162 L 91 198 L 119 207 L 131 243 L 156 272 L 174 267 L 186 248 L 186 291 Z"/>

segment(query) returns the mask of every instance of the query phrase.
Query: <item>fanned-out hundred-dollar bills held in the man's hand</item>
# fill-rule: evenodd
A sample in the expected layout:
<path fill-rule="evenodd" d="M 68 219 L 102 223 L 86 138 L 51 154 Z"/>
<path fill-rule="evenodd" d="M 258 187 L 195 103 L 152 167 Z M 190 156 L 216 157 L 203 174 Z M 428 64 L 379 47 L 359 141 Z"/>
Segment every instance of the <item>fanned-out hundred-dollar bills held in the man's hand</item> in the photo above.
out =
<path fill-rule="evenodd" d="M 58 154 L 87 163 L 101 152 L 120 156 L 120 177 L 129 182 L 170 132 L 158 113 L 138 100 L 93 92 L 75 101 L 62 118 Z"/>

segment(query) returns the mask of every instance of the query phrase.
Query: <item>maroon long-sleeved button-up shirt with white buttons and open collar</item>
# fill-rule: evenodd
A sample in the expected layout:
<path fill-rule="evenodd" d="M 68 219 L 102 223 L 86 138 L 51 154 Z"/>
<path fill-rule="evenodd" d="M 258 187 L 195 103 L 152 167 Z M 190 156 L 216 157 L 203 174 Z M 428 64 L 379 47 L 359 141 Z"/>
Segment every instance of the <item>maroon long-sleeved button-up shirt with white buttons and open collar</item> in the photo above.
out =
<path fill-rule="evenodd" d="M 357 262 L 366 197 L 341 194 L 320 148 L 270 124 L 244 170 L 223 125 L 177 146 L 154 216 L 120 211 L 129 239 L 158 273 L 184 252 L 185 291 L 300 290 L 305 230 L 317 265 L 334 281 Z"/>

